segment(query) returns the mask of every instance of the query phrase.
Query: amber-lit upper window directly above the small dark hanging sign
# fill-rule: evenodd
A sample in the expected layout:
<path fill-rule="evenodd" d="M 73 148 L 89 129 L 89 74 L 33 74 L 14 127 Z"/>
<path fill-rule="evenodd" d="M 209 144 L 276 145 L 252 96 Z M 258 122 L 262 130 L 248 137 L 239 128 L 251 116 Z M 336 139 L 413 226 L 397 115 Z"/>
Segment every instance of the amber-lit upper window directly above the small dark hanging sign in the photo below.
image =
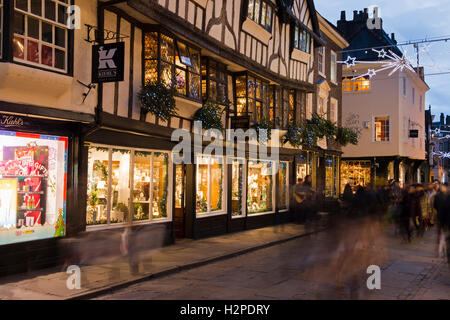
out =
<path fill-rule="evenodd" d="M 253 121 L 269 119 L 269 83 L 248 73 L 235 75 L 236 111 Z"/>

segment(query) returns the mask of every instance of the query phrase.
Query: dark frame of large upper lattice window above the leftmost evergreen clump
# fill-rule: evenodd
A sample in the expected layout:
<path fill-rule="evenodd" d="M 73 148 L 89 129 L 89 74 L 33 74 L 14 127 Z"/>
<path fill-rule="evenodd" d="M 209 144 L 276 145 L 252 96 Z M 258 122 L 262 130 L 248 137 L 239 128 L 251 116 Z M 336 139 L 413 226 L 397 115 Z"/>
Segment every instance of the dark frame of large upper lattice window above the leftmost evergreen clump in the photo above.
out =
<path fill-rule="evenodd" d="M 157 41 L 157 48 L 156 50 L 156 57 L 147 57 L 146 52 L 146 41 L 147 37 L 152 37 L 152 34 L 156 34 L 156 41 Z M 162 37 L 167 37 L 172 40 L 173 42 L 173 61 L 166 61 L 161 57 L 161 39 Z M 201 70 L 201 50 L 200 48 L 196 47 L 195 45 L 192 45 L 186 41 L 180 40 L 175 35 L 171 34 L 170 32 L 167 32 L 165 30 L 162 30 L 159 27 L 156 28 L 149 28 L 146 30 L 143 30 L 142 32 L 142 82 L 143 84 L 147 83 L 147 81 L 151 81 L 151 78 L 154 78 L 154 75 L 150 75 L 150 71 L 147 71 L 147 62 L 156 62 L 156 80 L 161 80 L 164 82 L 162 78 L 162 72 L 163 72 L 163 64 L 170 65 L 171 70 L 171 77 L 172 77 L 172 86 L 175 88 L 175 96 L 181 97 L 183 99 L 189 99 L 193 100 L 195 102 L 201 102 L 202 100 L 202 70 Z M 151 41 L 151 40 L 149 40 Z M 198 73 L 193 70 L 193 67 L 190 67 L 183 62 L 181 62 L 181 56 L 180 56 L 180 46 L 178 45 L 180 43 L 181 45 L 186 47 L 187 52 L 189 52 L 189 56 L 192 59 L 192 51 L 195 51 L 198 53 Z M 180 62 L 180 64 L 177 64 L 177 59 Z M 180 93 L 177 84 L 176 84 L 176 77 L 177 77 L 177 69 L 180 69 L 185 74 L 185 85 L 184 90 L 185 93 Z M 198 77 L 198 97 L 191 95 L 191 76 Z"/>

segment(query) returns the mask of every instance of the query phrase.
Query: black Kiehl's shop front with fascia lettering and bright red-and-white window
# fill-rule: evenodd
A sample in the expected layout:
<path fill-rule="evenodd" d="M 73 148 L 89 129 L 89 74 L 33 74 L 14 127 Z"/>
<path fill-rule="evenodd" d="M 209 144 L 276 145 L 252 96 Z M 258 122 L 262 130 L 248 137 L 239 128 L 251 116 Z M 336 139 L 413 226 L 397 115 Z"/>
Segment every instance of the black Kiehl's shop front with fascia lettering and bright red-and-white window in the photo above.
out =
<path fill-rule="evenodd" d="M 0 114 L 0 274 L 58 263 L 58 239 L 76 232 L 78 129 L 75 121 Z"/>

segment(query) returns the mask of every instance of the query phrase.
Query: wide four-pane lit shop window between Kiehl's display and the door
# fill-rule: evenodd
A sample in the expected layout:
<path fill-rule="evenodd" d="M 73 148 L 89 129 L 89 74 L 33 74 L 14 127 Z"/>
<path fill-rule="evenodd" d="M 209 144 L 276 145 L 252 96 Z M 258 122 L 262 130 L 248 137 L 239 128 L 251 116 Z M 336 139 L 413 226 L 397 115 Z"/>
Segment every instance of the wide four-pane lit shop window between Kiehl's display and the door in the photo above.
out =
<path fill-rule="evenodd" d="M 90 147 L 87 225 L 167 218 L 168 165 L 165 152 Z"/>

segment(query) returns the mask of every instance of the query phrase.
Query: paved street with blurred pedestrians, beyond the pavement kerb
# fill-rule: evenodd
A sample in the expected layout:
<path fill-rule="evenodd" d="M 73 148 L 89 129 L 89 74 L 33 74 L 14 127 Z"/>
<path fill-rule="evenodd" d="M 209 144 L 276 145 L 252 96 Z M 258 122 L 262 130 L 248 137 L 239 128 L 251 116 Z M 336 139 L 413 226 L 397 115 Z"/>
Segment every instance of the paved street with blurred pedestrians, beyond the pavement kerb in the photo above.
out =
<path fill-rule="evenodd" d="M 449 299 L 435 241 L 434 229 L 406 244 L 382 224 L 346 223 L 97 299 Z M 380 290 L 367 289 L 369 265 L 381 267 Z"/>

